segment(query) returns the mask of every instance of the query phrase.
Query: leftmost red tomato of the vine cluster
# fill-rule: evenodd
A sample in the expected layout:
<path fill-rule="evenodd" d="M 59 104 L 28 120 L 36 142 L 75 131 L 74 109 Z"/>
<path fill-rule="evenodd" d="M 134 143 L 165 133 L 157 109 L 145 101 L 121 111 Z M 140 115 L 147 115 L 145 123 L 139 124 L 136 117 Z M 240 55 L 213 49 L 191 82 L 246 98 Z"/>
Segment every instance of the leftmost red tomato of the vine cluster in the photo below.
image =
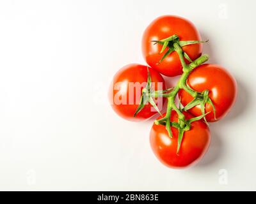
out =
<path fill-rule="evenodd" d="M 165 83 L 163 77 L 154 69 L 148 68 L 152 81 L 153 90 L 164 90 Z M 120 117 L 140 121 L 155 115 L 156 110 L 149 103 L 146 104 L 136 117 L 138 106 L 140 105 L 141 91 L 147 85 L 147 66 L 140 64 L 129 64 L 120 69 L 113 78 L 113 83 L 109 88 L 109 101 L 115 112 Z M 157 99 L 158 108 L 161 109 L 164 103 L 163 98 Z"/>

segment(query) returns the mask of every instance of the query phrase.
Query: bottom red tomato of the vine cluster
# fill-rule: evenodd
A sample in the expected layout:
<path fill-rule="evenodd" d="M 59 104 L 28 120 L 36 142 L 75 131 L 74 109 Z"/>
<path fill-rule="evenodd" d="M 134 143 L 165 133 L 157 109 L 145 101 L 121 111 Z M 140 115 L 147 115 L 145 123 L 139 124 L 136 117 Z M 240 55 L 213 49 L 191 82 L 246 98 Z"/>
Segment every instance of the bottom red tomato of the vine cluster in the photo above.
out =
<path fill-rule="evenodd" d="M 186 119 L 193 115 L 184 112 Z M 171 122 L 177 122 L 177 113 L 172 111 Z M 172 138 L 168 135 L 165 126 L 152 126 L 150 131 L 150 145 L 156 157 L 170 168 L 186 168 L 202 158 L 209 147 L 211 140 L 209 128 L 205 122 L 198 120 L 191 122 L 191 128 L 184 132 L 184 136 L 177 153 L 178 129 L 171 127 Z"/>

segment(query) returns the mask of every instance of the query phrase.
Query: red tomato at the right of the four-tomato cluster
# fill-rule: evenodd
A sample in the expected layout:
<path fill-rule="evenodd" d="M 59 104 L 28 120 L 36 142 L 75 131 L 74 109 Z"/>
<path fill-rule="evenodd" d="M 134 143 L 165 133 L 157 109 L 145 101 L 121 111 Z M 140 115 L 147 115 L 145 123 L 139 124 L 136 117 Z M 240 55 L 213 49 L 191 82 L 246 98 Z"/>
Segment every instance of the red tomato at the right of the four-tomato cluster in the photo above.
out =
<path fill-rule="evenodd" d="M 212 106 L 207 103 L 205 105 L 205 113 L 208 122 L 215 122 L 222 119 L 230 111 L 234 105 L 237 96 L 236 80 L 228 73 L 228 71 L 216 64 L 203 64 L 195 68 L 189 75 L 187 80 L 188 85 L 195 91 L 209 91 L 216 109 L 216 120 Z M 193 98 L 184 90 L 179 91 L 179 97 L 182 105 L 186 106 Z M 188 110 L 193 115 L 202 115 L 200 105 Z"/>

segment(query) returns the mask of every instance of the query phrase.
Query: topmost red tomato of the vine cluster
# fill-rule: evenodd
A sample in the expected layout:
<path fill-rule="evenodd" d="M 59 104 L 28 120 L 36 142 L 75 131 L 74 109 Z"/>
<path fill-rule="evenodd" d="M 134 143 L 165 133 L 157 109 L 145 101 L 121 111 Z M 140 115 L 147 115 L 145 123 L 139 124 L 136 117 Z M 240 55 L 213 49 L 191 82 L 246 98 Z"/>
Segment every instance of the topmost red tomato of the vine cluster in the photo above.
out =
<path fill-rule="evenodd" d="M 195 25 L 185 18 L 173 15 L 156 18 L 156 20 L 148 25 L 142 38 L 142 52 L 145 61 L 150 67 L 168 77 L 182 74 L 179 55 L 177 52 L 172 52 L 172 54 L 168 55 L 168 57 L 159 63 L 168 48 L 162 54 L 159 54 L 163 46 L 159 44 L 154 45 L 152 41 L 163 40 L 173 34 L 177 34 L 181 41 L 201 40 Z M 187 45 L 182 47 L 182 49 L 189 55 L 191 60 L 195 60 L 202 54 L 202 44 Z"/>

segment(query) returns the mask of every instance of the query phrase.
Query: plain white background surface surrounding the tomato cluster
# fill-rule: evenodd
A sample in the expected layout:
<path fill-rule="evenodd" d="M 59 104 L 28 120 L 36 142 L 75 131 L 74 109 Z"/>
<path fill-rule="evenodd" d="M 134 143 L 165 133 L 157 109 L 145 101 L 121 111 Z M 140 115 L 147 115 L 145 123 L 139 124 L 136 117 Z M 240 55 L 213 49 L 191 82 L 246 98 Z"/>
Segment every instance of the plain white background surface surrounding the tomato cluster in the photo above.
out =
<path fill-rule="evenodd" d="M 1 0 L 0 190 L 256 190 L 255 6 Z M 238 83 L 232 112 L 211 124 L 209 152 L 187 170 L 154 157 L 153 119 L 122 120 L 107 98 L 119 68 L 145 64 L 141 35 L 165 14 L 194 22 L 210 62 Z"/>

